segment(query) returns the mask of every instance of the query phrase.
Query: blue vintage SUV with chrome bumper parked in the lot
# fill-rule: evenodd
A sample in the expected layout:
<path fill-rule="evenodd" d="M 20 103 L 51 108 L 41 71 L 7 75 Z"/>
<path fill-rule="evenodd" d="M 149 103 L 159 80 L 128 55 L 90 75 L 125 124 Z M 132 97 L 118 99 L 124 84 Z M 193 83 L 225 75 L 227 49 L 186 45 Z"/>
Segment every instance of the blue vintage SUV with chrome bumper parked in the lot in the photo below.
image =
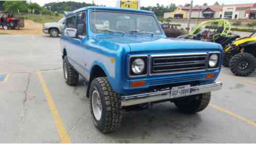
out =
<path fill-rule="evenodd" d="M 133 106 L 174 102 L 180 112 L 204 110 L 222 66 L 222 46 L 169 39 L 151 11 L 85 7 L 66 15 L 61 36 L 67 85 L 87 80 L 96 128 L 116 130 Z"/>

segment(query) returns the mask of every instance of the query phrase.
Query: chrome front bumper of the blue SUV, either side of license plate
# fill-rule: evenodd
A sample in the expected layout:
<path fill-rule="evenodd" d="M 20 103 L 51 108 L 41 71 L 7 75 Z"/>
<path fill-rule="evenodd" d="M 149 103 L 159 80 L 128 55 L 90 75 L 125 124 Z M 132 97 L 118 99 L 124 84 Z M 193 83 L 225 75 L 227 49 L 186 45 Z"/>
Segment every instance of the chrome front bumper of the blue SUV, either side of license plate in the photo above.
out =
<path fill-rule="evenodd" d="M 216 82 L 209 85 L 194 86 L 194 87 L 190 87 L 189 95 L 202 94 L 202 93 L 207 93 L 211 91 L 217 91 L 220 89 L 222 89 L 222 82 Z M 144 104 L 147 102 L 171 99 L 170 92 L 171 90 L 164 90 L 164 91 L 156 91 L 156 92 L 141 93 L 141 94 L 134 94 L 134 95 L 123 95 L 121 96 L 121 100 L 122 100 L 121 106 L 132 106 L 132 105 Z"/>

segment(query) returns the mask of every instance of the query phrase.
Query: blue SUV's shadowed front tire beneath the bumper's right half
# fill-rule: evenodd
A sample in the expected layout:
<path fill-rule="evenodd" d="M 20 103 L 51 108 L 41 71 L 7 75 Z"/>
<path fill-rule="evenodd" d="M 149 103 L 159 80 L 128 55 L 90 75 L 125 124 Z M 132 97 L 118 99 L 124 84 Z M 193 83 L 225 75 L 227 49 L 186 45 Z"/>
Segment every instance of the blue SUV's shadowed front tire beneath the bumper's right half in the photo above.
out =
<path fill-rule="evenodd" d="M 211 100 L 211 93 L 197 94 L 192 97 L 174 101 L 178 110 L 182 113 L 194 114 L 203 111 Z"/>

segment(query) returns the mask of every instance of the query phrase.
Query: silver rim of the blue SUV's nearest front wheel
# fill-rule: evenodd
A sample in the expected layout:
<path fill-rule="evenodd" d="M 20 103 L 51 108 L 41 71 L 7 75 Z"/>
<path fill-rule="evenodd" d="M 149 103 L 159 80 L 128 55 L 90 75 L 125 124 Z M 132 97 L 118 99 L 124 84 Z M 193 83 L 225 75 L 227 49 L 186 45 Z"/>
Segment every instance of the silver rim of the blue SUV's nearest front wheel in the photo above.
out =
<path fill-rule="evenodd" d="M 92 107 L 93 107 L 95 118 L 97 120 L 100 120 L 101 113 L 102 113 L 102 106 L 101 106 L 100 94 L 97 90 L 94 90 L 92 93 Z"/>

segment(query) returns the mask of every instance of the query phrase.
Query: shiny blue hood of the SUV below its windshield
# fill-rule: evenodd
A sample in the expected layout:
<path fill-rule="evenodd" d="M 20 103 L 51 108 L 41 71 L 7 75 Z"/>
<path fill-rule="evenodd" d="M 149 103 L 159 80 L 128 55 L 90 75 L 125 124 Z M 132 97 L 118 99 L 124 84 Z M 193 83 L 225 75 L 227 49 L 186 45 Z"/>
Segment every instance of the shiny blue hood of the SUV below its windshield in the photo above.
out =
<path fill-rule="evenodd" d="M 162 36 L 150 36 L 145 34 L 133 34 L 125 36 L 101 37 L 111 43 L 127 44 L 131 52 L 164 52 L 170 50 L 181 51 L 211 51 L 222 49 L 216 43 L 202 42 L 199 40 L 167 38 Z"/>

